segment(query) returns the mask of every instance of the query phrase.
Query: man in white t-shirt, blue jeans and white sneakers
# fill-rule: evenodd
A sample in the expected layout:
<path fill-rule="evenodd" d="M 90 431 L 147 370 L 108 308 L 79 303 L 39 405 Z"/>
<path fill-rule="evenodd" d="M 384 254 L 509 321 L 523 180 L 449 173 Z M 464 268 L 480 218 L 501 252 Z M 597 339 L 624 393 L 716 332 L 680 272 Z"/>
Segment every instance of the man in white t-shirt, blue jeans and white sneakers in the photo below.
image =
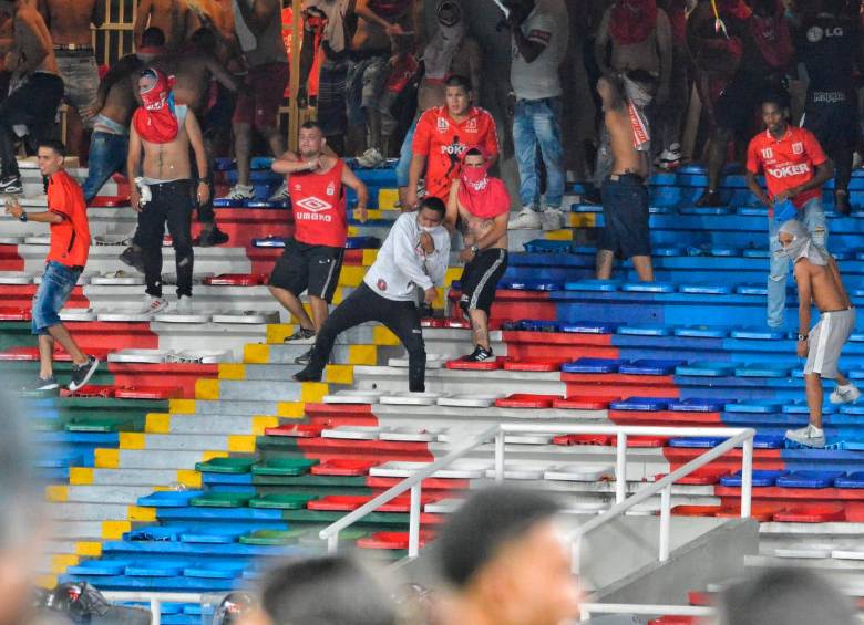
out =
<path fill-rule="evenodd" d="M 522 201 L 522 212 L 511 220 L 510 229 L 557 230 L 564 226 L 563 90 L 558 70 L 569 41 L 567 7 L 564 0 L 502 2 L 510 10 L 507 24 L 513 39 L 513 144 Z M 545 209 L 541 204 L 537 147 L 546 167 Z"/>

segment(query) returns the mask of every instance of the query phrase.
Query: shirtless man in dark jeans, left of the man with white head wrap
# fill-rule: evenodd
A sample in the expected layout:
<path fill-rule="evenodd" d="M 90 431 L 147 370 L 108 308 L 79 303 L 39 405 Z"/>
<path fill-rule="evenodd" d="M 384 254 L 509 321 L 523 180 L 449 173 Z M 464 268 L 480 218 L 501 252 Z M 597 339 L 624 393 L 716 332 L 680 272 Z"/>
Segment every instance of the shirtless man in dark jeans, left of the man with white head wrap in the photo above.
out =
<path fill-rule="evenodd" d="M 356 143 L 369 148 L 364 165 L 383 159 L 380 97 L 388 77 L 391 39 L 414 37 L 422 28 L 423 2 L 418 0 L 357 0 L 360 18 L 348 64 L 348 123 Z M 368 137 L 368 143 L 360 136 Z"/>

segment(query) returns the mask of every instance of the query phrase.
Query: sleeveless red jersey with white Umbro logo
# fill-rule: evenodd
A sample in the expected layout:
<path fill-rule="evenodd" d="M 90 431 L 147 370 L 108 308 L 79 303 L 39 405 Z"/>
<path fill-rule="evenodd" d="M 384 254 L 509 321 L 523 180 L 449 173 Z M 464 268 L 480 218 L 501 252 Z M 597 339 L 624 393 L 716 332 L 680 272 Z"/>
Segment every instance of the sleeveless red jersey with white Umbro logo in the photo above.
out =
<path fill-rule="evenodd" d="M 348 239 L 348 215 L 342 169 L 344 163 L 323 173 L 291 174 L 288 190 L 294 210 L 294 238 L 310 246 L 343 248 Z"/>

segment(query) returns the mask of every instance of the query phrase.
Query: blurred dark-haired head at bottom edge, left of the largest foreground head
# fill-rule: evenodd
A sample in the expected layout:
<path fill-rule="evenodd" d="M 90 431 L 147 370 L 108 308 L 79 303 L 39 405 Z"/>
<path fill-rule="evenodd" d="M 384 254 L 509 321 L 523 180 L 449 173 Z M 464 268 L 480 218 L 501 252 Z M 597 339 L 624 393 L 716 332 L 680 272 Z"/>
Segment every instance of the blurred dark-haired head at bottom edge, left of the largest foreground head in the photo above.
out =
<path fill-rule="evenodd" d="M 243 625 L 394 625 L 393 598 L 346 556 L 288 562 L 264 579 L 259 610 Z"/>

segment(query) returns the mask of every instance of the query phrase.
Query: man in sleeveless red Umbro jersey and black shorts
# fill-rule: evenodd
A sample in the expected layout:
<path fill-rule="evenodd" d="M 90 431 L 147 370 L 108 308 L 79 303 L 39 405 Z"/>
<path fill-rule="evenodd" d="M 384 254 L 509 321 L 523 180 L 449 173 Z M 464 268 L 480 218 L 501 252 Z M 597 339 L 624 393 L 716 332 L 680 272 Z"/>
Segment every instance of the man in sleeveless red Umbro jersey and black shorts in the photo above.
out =
<path fill-rule="evenodd" d="M 357 192 L 356 216 L 366 221 L 369 192 L 344 162 L 325 154 L 321 127 L 315 122 L 300 126 L 299 158 L 286 153 L 272 170 L 286 176 L 294 211 L 294 237 L 270 275 L 270 293 L 297 319 L 300 326 L 286 343 L 311 345 L 327 320 L 348 239 L 348 215 L 343 186 Z M 304 310 L 300 293 L 307 291 L 312 319 Z M 309 352 L 297 364 L 308 364 Z"/>

